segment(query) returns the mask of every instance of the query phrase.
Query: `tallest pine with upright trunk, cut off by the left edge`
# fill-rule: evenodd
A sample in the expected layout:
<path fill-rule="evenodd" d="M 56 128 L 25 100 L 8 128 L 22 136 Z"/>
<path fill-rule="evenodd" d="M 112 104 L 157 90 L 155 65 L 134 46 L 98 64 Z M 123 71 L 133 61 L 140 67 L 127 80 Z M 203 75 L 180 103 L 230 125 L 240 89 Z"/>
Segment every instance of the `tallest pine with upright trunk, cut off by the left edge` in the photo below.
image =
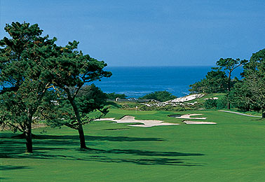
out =
<path fill-rule="evenodd" d="M 22 132 L 32 153 L 32 122 L 50 85 L 40 65 L 53 55 L 56 39 L 41 37 L 36 24 L 13 22 L 4 29 L 10 38 L 0 41 L 0 123 Z"/>

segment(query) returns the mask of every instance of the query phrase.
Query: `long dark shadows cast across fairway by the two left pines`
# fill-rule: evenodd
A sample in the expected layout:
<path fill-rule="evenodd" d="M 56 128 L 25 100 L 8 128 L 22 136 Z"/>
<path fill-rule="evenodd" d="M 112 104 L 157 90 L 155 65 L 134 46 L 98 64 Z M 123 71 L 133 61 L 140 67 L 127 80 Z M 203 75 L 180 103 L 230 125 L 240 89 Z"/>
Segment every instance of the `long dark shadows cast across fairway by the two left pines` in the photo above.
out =
<path fill-rule="evenodd" d="M 0 141 L 1 158 L 36 158 L 58 160 L 83 160 L 95 162 L 132 163 L 136 165 L 182 165 L 199 166 L 196 163 L 184 162 L 189 159 L 179 159 L 185 156 L 202 156 L 201 153 L 178 153 L 165 151 L 144 151 L 135 149 L 100 150 L 88 148 L 75 150 L 79 146 L 79 136 L 39 135 L 34 139 L 34 153 L 25 154 L 25 139 L 11 139 L 12 135 L 3 136 Z M 87 136 L 87 141 L 163 141 L 158 138 L 137 137 L 93 137 Z M 73 144 L 76 143 L 76 144 Z M 48 147 L 46 147 L 48 146 Z M 56 147 L 53 147 L 56 146 Z M 92 144 L 89 144 L 92 146 Z M 74 153 L 74 154 L 73 154 Z M 137 156 L 137 157 L 135 157 Z M 12 167 L 11 167 L 12 169 Z M 8 167 L 6 167 L 8 170 Z"/>

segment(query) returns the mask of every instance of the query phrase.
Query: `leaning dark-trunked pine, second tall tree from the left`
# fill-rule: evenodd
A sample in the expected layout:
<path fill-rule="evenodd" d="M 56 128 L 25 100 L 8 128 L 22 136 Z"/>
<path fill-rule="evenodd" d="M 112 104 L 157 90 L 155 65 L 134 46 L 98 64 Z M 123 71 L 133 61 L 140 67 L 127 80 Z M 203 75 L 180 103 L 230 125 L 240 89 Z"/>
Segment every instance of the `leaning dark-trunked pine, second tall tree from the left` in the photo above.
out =
<path fill-rule="evenodd" d="M 85 83 L 109 77 L 111 72 L 103 70 L 107 66 L 103 61 L 98 61 L 89 55 L 83 55 L 83 52 L 77 50 L 78 44 L 77 41 L 73 41 L 65 47 L 57 47 L 57 56 L 50 57 L 43 66 L 50 71 L 49 78 L 52 80 L 55 90 L 61 94 L 62 99 L 67 99 L 72 106 L 74 113 L 72 121 L 65 123 L 65 125 L 78 130 L 80 147 L 86 148 L 83 125 L 88 121 L 82 119 L 82 108 L 79 107 L 80 100 L 76 98 Z M 98 109 L 100 110 L 100 108 Z M 106 112 L 106 110 L 100 111 Z"/>

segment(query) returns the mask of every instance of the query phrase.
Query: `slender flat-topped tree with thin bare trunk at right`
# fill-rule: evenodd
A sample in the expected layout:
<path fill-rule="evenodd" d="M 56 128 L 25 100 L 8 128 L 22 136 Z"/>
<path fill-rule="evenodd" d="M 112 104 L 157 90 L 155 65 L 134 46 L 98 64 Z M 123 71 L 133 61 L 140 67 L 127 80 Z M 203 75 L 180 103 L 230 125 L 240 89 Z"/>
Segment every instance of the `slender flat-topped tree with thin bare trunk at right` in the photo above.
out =
<path fill-rule="evenodd" d="M 219 61 L 217 61 L 217 66 L 219 66 L 219 69 L 224 69 L 224 71 L 227 72 L 228 74 L 228 79 L 227 79 L 227 91 L 230 92 L 231 90 L 231 74 L 232 72 L 238 68 L 239 66 L 242 66 L 245 64 L 247 60 L 243 59 L 240 60 L 239 58 L 237 59 L 232 59 L 232 58 L 221 58 Z M 227 102 L 227 109 L 230 109 L 230 102 L 228 99 Z"/>

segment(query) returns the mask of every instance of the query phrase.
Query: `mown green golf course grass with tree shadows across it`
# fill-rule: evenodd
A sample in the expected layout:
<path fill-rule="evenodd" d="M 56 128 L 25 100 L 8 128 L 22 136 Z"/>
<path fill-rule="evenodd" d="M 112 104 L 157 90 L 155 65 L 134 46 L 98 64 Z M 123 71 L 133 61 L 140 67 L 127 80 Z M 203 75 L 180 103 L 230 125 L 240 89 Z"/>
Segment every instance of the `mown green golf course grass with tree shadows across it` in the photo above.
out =
<path fill-rule="evenodd" d="M 87 145 L 79 150 L 76 130 L 33 130 L 34 153 L 25 140 L 1 132 L 1 181 L 265 181 L 265 120 L 218 111 L 203 113 L 217 125 L 128 127 L 108 121 L 84 127 Z M 176 112 L 112 109 L 124 115 L 170 123 Z M 124 130 L 116 130 L 124 129 Z"/>

